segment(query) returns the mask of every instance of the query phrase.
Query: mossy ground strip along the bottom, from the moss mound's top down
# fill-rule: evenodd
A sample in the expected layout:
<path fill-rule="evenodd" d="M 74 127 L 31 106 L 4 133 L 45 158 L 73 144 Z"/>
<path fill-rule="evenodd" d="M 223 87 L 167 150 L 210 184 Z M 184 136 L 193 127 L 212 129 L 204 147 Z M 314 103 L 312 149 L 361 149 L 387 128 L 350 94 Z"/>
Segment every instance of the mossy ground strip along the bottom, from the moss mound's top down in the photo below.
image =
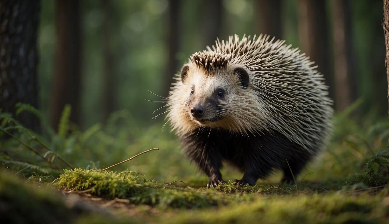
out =
<path fill-rule="evenodd" d="M 3 219 L 3 223 L 389 221 L 387 184 L 377 187 L 356 184 L 346 189 L 340 181 L 333 180 L 327 183 L 304 181 L 297 186 L 258 184 L 236 187 L 229 183 L 206 189 L 143 182 L 138 175 L 123 175 L 78 169 L 65 172 L 56 181 L 58 184 L 42 186 L 36 182 L 25 183 L 2 172 L 0 213 L 3 214 L 0 220 Z M 64 184 L 72 190 L 63 188 Z"/>

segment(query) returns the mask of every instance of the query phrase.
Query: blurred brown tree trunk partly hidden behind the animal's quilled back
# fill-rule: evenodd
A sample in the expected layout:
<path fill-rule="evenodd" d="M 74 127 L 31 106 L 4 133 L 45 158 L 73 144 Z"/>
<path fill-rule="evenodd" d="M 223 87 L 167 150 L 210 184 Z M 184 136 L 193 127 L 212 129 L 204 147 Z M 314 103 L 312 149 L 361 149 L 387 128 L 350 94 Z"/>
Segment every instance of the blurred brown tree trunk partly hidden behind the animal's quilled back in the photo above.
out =
<path fill-rule="evenodd" d="M 329 96 L 334 98 L 333 75 L 329 61 L 329 33 L 324 0 L 298 1 L 298 31 L 300 49 L 315 61 L 317 70 L 323 73 Z"/>

